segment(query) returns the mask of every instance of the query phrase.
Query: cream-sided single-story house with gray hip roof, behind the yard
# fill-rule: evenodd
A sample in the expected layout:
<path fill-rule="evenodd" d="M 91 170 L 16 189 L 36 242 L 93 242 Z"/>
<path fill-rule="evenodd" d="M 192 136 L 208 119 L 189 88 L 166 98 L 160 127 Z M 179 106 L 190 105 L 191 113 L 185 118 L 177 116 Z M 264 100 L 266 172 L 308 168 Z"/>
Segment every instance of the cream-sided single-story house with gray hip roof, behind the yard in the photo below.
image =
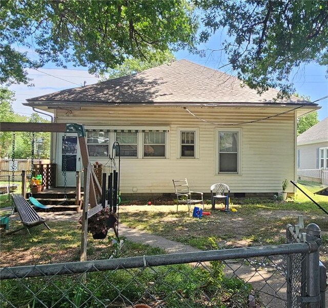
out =
<path fill-rule="evenodd" d="M 105 170 L 118 141 L 124 194 L 173 193 L 172 179 L 188 178 L 197 191 L 223 182 L 235 196 L 272 196 L 283 179 L 296 178 L 297 118 L 320 108 L 297 97 L 277 101 L 277 93 L 258 95 L 233 76 L 181 60 L 25 105 L 52 112 L 57 123 L 84 124 L 90 161 Z M 67 181 L 74 186 L 80 162 L 71 138 Z M 63 134 L 52 140 L 63 185 Z"/>

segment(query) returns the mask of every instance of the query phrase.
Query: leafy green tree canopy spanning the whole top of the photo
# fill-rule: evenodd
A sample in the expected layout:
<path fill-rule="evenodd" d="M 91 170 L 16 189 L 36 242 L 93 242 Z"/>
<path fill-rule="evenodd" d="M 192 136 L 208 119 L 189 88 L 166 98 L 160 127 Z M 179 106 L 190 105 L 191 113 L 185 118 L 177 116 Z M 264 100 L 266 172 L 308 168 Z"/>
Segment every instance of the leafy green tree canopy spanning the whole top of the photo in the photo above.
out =
<path fill-rule="evenodd" d="M 1 84 L 27 83 L 26 68 L 49 62 L 104 73 L 158 51 L 200 52 L 223 29 L 224 66 L 259 93 L 291 94 L 295 68 L 328 64 L 327 1 L 2 0 L 0 8 Z"/>

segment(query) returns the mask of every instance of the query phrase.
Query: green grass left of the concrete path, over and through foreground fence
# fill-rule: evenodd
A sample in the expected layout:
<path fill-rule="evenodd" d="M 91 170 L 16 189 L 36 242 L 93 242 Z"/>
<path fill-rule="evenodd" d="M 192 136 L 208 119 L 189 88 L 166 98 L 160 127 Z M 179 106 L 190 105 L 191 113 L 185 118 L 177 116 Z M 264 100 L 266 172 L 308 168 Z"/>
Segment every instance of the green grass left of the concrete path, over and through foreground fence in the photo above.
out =
<path fill-rule="evenodd" d="M 17 226 L 20 224 L 12 221 L 11 227 Z M 43 226 L 33 227 L 31 236 L 23 231 L 1 237 L 2 258 L 11 258 L 11 265 L 78 261 L 79 224 L 50 222 L 49 226 L 51 231 Z M 88 235 L 88 260 L 108 259 L 112 256 L 117 248 L 117 245 L 113 245 L 112 239 L 113 237 L 93 240 L 91 235 Z M 124 244 L 119 252 L 113 255 L 114 258 L 165 254 L 160 248 L 122 240 Z M 23 256 L 26 258 L 25 262 Z M 231 294 L 235 294 L 234 302 L 241 306 L 246 305 L 251 285 L 238 279 L 227 279 L 222 271 L 219 263 L 212 263 L 212 273 L 201 267 L 193 268 L 182 264 L 88 273 L 84 283 L 80 283 L 79 275 L 4 280 L 0 282 L 2 294 L 5 294 L 2 306 L 6 307 L 8 300 L 17 307 L 37 307 L 40 300 L 46 306 L 66 307 L 68 299 L 77 306 L 83 303 L 83 306 L 97 307 L 100 302 L 120 306 L 122 303 L 117 290 L 131 302 L 137 302 L 146 294 L 146 288 L 158 300 L 164 300 L 166 305 L 172 308 L 206 306 L 209 298 L 211 304 L 225 307 L 231 301 Z M 33 293 L 37 294 L 37 300 Z M 222 299 L 225 300 L 224 304 Z M 149 300 L 145 295 L 144 301 L 151 304 Z"/>

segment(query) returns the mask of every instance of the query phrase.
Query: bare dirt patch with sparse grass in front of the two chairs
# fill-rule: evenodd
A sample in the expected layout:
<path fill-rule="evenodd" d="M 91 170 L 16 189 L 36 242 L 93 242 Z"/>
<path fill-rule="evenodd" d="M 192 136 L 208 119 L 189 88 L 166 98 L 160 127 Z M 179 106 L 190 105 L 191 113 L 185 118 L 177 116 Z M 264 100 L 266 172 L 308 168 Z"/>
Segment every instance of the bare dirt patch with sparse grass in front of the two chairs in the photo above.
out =
<path fill-rule="evenodd" d="M 188 215 L 187 206 L 121 206 L 120 221 L 167 239 L 199 249 L 234 248 L 285 243 L 287 223 L 296 224 L 303 216 L 304 226 L 317 223 L 322 230 L 323 245 L 320 258 L 328 265 L 328 217 L 319 211 L 279 210 L 268 207 L 235 205 L 237 213 L 226 213 L 220 208 L 205 210 L 210 216 L 201 219 Z M 212 241 L 209 241 L 209 238 Z M 213 247 L 216 245 L 216 247 Z"/>

